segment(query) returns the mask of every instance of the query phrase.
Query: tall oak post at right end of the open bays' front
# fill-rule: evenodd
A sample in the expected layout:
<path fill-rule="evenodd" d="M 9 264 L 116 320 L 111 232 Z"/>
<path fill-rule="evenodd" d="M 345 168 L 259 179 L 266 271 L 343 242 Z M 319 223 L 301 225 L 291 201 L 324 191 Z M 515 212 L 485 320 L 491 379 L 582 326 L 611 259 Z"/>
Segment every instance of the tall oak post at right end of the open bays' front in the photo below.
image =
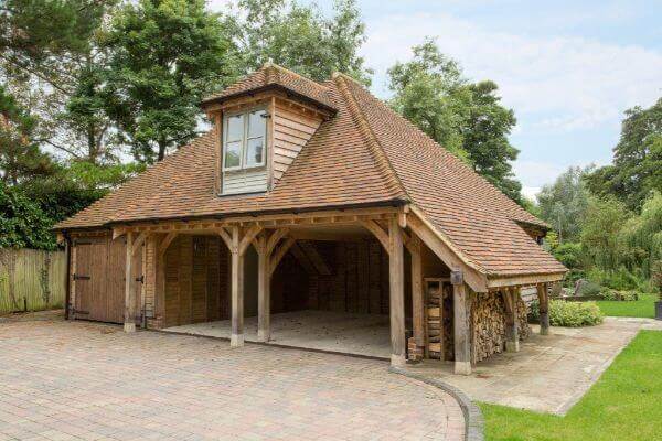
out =
<path fill-rule="evenodd" d="M 405 365 L 405 268 L 403 233 L 396 217 L 388 222 L 391 365 Z"/>

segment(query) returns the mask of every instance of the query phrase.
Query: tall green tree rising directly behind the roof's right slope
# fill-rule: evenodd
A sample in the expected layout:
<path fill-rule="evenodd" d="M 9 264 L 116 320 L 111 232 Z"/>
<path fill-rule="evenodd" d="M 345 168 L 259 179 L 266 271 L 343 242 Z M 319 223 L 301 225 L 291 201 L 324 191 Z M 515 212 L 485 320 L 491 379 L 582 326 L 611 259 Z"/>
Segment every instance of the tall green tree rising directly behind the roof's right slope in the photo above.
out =
<path fill-rule="evenodd" d="M 393 108 L 521 203 L 511 165 L 519 151 L 508 140 L 516 120 L 501 106 L 496 84 L 469 83 L 431 39 L 413 52 L 412 61 L 388 69 Z"/>

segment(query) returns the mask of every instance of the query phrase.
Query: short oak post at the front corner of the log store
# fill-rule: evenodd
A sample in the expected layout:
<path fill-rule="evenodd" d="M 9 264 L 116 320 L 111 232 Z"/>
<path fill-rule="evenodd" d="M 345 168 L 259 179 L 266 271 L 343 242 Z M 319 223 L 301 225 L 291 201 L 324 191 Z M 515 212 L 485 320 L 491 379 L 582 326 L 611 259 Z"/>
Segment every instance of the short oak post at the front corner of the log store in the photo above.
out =
<path fill-rule="evenodd" d="M 471 374 L 471 338 L 469 335 L 469 294 L 461 271 L 452 271 L 452 316 L 455 373 Z"/>

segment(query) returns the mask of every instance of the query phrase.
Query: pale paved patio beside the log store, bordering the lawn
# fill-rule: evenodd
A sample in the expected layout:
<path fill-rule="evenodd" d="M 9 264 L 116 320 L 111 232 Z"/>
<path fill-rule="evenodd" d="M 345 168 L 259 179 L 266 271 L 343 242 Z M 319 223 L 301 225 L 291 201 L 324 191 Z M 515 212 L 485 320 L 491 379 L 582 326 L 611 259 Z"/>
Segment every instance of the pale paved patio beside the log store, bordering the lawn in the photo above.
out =
<path fill-rule="evenodd" d="M 435 361 L 407 368 L 456 386 L 473 400 L 565 415 L 639 330 L 662 330 L 662 322 L 607 318 L 598 326 L 553 327 L 547 336 L 533 327 L 521 352 L 479 363 L 470 376 L 453 375 L 452 364 Z"/>

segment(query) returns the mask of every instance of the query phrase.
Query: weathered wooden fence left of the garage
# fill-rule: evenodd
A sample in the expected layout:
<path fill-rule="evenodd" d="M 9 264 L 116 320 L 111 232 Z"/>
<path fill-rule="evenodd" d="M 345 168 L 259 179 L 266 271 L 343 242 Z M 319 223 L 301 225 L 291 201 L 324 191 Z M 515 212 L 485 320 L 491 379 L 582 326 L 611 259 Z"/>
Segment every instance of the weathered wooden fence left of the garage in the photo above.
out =
<path fill-rule="evenodd" d="M 0 249 L 0 314 L 62 308 L 66 254 L 39 249 Z"/>

